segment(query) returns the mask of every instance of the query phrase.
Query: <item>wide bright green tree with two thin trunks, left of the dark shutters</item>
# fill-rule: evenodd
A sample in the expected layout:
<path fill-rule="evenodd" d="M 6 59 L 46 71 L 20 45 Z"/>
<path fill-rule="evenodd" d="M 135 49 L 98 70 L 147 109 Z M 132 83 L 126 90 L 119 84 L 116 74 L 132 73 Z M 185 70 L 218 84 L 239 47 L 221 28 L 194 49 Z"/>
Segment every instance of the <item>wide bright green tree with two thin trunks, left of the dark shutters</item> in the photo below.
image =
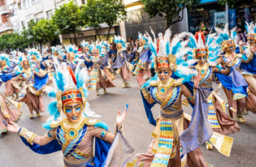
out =
<path fill-rule="evenodd" d="M 126 16 L 125 6 L 122 0 L 87 0 L 87 4 L 82 8 L 82 18 L 86 18 L 87 26 L 93 27 L 99 36 L 97 28 L 101 23 L 107 23 L 108 35 L 111 27 L 117 22 L 117 19 L 124 20 Z M 101 40 L 101 38 L 99 37 Z"/>

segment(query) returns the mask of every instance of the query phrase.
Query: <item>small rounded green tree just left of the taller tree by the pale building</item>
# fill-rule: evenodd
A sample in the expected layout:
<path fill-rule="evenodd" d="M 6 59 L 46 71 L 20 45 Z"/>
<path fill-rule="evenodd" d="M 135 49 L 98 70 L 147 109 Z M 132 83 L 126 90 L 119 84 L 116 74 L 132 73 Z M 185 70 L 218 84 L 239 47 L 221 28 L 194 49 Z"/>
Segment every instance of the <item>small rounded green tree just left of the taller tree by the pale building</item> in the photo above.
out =
<path fill-rule="evenodd" d="M 58 37 L 58 29 L 53 20 L 42 19 L 36 22 L 32 29 L 34 37 L 43 40 L 49 48 L 51 48 L 52 41 Z"/>

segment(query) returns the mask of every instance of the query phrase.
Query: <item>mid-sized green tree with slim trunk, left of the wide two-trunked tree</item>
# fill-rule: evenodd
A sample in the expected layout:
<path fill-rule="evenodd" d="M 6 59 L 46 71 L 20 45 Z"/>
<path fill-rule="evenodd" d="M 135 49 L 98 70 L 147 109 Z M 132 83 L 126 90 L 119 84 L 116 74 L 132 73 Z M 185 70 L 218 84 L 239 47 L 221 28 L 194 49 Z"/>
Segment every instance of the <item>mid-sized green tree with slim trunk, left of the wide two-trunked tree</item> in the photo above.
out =
<path fill-rule="evenodd" d="M 75 44 L 77 43 L 76 33 L 81 32 L 85 25 L 81 16 L 81 7 L 70 1 L 68 4 L 61 5 L 60 8 L 55 10 L 52 20 L 57 25 L 59 34 L 73 34 Z"/>

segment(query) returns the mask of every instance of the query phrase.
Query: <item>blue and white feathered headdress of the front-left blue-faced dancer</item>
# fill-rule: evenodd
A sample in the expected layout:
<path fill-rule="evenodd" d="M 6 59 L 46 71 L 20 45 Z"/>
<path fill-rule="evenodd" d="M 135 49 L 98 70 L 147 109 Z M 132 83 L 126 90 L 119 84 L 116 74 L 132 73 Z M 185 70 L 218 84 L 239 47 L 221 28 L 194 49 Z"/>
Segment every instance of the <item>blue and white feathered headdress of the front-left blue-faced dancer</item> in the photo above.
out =
<path fill-rule="evenodd" d="M 65 112 L 62 109 L 70 103 L 80 103 L 82 110 L 86 111 L 83 106 L 86 106 L 88 96 L 86 82 L 89 77 L 87 69 L 80 69 L 80 65 L 77 65 L 76 73 L 74 74 L 65 62 L 60 64 L 57 58 L 54 57 L 53 59 L 56 67 L 56 74 L 53 77 L 54 87 L 48 87 L 46 92 L 49 97 L 55 99 L 55 102 L 50 103 L 48 106 L 48 112 L 52 117 L 43 125 L 46 128 L 52 128 L 52 124 L 60 123 Z"/>

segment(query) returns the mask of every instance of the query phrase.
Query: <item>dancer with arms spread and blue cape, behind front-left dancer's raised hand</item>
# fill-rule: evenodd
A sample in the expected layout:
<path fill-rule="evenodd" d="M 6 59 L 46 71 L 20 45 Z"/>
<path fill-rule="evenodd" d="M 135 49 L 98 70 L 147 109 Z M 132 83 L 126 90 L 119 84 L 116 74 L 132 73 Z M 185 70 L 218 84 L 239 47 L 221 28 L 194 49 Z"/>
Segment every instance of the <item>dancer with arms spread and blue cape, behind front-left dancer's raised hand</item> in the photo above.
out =
<path fill-rule="evenodd" d="M 26 85 L 22 89 L 20 97 L 17 99 L 18 102 L 24 102 L 28 105 L 30 109 L 30 118 L 33 118 L 33 111 L 36 111 L 37 117 L 40 117 L 40 112 L 45 111 L 45 106 L 43 104 L 43 88 L 45 88 L 46 83 L 48 83 L 48 72 L 40 69 L 39 71 L 31 68 L 32 62 L 27 59 L 25 55 L 19 55 L 19 69 L 16 77 L 11 80 L 16 81 L 21 77 Z"/>

